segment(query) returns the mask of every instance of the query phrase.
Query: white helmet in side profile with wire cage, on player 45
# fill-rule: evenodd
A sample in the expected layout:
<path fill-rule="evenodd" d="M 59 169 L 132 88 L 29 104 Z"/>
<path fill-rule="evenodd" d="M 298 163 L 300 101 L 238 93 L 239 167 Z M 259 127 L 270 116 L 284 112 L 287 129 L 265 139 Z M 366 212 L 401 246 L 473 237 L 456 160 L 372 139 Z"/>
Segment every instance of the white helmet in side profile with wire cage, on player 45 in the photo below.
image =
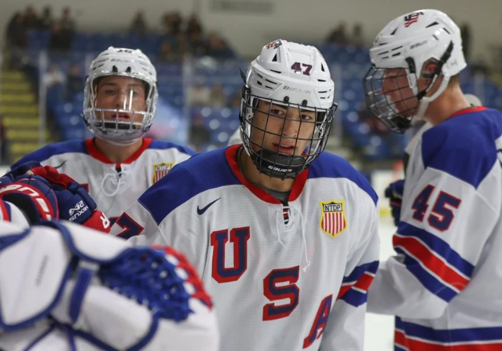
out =
<path fill-rule="evenodd" d="M 372 66 L 364 77 L 368 108 L 396 132 L 404 132 L 413 118 L 422 118 L 429 103 L 446 89 L 450 77 L 467 65 L 462 53 L 460 29 L 438 10 L 414 11 L 392 20 L 376 36 L 369 56 Z M 437 70 L 426 77 L 431 78 L 429 86 L 419 91 L 417 81 L 424 64 L 429 62 L 435 62 Z M 392 68 L 404 69 L 408 85 L 418 99 L 418 104 L 407 111 L 398 110 L 395 106 L 398 101 L 383 92 L 384 74 Z M 426 97 L 440 75 L 443 76 L 441 85 L 432 96 Z"/>

